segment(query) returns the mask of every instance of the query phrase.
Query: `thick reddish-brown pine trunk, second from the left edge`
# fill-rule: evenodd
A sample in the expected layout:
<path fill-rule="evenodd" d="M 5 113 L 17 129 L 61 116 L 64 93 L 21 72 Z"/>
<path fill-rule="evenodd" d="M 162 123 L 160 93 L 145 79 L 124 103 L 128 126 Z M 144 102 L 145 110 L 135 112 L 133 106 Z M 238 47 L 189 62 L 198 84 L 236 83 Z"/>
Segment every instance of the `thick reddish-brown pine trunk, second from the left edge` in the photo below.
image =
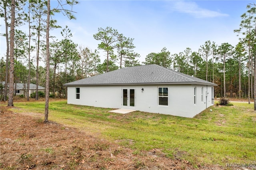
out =
<path fill-rule="evenodd" d="M 12 0 L 12 4 L 11 4 L 11 29 L 10 29 L 10 70 L 9 70 L 8 106 L 13 106 L 13 92 L 14 92 L 14 24 L 15 24 L 15 0 Z"/>

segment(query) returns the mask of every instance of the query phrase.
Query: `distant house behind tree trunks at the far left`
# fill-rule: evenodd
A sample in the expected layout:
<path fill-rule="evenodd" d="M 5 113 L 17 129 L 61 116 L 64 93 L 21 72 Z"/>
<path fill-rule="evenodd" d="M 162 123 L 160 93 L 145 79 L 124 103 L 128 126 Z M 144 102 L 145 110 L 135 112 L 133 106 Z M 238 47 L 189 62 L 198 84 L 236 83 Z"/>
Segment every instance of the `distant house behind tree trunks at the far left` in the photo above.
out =
<path fill-rule="evenodd" d="M 2 85 L 4 87 L 5 81 L 2 82 Z M 7 86 L 8 86 L 8 90 L 7 91 L 9 91 L 9 85 L 7 85 Z M 15 83 L 14 83 L 14 94 L 15 93 L 16 93 L 16 95 L 27 94 L 27 87 L 28 87 L 27 83 L 16 83 L 16 88 L 15 88 Z M 30 88 L 29 95 L 36 91 L 36 85 L 33 84 L 33 83 L 30 83 L 30 87 L 29 88 Z M 44 91 L 44 90 L 45 90 L 44 87 L 38 86 L 38 91 Z M 4 88 L 3 88 L 3 91 L 4 91 Z"/>

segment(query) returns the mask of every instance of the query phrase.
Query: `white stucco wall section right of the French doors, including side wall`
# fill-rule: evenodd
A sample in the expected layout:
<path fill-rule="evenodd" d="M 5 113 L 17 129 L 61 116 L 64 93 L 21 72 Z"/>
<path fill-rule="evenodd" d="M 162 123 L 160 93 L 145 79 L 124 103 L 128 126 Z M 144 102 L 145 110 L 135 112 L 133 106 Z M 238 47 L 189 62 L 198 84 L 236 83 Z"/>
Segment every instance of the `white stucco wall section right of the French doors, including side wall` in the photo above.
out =
<path fill-rule="evenodd" d="M 213 105 L 211 87 L 206 85 L 160 85 L 142 86 L 144 91 L 137 95 L 136 109 L 150 113 L 162 113 L 181 117 L 194 117 L 206 109 L 206 90 L 208 89 L 207 107 Z M 141 89 L 140 87 L 139 89 Z M 158 87 L 168 87 L 168 106 L 158 105 Z M 194 87 L 196 87 L 196 104 L 194 104 Z M 202 87 L 204 87 L 202 102 Z M 152 93 L 150 93 L 152 92 Z"/>

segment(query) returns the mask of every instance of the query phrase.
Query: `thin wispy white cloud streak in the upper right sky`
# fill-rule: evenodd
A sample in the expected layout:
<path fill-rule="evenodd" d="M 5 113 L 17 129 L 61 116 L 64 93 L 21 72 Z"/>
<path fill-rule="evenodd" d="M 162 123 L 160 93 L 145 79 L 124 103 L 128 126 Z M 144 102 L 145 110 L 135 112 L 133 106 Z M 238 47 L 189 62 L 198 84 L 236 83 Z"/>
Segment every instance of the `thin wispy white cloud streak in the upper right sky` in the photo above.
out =
<path fill-rule="evenodd" d="M 214 18 L 220 16 L 229 16 L 228 14 L 200 8 L 195 2 L 190 1 L 172 1 L 171 8 L 174 11 L 190 14 L 196 18 Z"/>

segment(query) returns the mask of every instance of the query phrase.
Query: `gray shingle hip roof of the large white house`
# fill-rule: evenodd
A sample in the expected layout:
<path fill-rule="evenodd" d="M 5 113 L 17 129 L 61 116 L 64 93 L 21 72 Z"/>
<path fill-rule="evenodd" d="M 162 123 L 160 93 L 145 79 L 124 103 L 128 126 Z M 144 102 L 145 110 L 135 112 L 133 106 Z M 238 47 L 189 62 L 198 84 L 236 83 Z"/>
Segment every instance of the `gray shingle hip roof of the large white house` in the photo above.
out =
<path fill-rule="evenodd" d="M 150 64 L 135 67 L 125 67 L 85 79 L 80 79 L 66 86 L 74 85 L 134 85 L 134 84 L 202 84 L 216 85 L 209 81 L 179 73 L 172 69 Z"/>

